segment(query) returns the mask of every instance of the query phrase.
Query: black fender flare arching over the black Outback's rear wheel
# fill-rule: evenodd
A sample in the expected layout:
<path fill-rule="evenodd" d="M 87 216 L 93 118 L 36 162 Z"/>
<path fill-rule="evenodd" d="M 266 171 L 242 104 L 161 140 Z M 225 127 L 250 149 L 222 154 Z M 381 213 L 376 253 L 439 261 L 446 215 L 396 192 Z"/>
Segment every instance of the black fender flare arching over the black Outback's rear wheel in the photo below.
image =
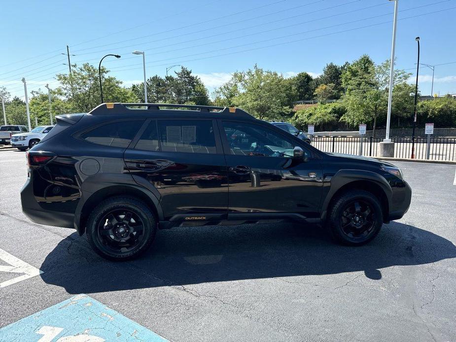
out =
<path fill-rule="evenodd" d="M 147 188 L 133 180 L 129 173 L 99 173 L 86 178 L 81 188 L 81 197 L 76 206 L 73 226 L 79 235 L 85 232 L 85 223 L 89 208 L 100 203 L 105 198 L 123 195 L 140 198 L 157 215 L 157 220 L 164 219 L 163 208 L 160 203 L 160 193 L 150 183 Z"/>

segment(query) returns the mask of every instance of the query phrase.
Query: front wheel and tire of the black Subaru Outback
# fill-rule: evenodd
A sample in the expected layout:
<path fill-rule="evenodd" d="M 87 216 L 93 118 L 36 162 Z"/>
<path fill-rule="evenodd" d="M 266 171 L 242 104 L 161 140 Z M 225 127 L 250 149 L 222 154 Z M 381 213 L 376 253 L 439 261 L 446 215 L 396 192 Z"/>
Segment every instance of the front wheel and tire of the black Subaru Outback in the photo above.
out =
<path fill-rule="evenodd" d="M 383 225 L 380 200 L 364 190 L 349 190 L 332 201 L 328 228 L 337 242 L 358 246 L 374 239 Z"/>

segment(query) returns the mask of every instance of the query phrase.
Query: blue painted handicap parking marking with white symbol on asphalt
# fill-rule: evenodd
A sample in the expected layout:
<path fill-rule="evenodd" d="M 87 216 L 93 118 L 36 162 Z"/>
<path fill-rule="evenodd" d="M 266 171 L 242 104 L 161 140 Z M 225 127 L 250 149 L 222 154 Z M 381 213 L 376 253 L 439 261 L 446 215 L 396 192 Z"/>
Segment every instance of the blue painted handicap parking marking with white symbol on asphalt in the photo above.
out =
<path fill-rule="evenodd" d="M 1 328 L 0 341 L 168 342 L 86 295 L 76 295 Z"/>

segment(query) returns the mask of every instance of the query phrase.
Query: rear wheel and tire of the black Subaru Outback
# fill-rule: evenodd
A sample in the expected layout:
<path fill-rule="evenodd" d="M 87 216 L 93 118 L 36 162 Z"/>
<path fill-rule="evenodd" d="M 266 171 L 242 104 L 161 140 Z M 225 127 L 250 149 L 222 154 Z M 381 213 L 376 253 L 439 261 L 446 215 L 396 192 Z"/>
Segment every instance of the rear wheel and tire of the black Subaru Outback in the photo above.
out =
<path fill-rule="evenodd" d="M 157 220 L 148 206 L 124 196 L 111 197 L 97 205 L 86 229 L 89 244 L 108 260 L 137 258 L 150 247 L 156 232 Z"/>

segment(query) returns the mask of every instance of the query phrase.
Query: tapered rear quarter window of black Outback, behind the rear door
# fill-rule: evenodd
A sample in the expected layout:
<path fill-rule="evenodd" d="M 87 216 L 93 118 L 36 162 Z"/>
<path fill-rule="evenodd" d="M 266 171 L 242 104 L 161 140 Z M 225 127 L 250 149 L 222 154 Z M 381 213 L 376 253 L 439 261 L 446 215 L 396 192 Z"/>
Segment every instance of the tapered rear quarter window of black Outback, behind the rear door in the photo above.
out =
<path fill-rule="evenodd" d="M 111 122 L 81 134 L 80 138 L 99 145 L 126 148 L 142 123 L 143 121 Z"/>

